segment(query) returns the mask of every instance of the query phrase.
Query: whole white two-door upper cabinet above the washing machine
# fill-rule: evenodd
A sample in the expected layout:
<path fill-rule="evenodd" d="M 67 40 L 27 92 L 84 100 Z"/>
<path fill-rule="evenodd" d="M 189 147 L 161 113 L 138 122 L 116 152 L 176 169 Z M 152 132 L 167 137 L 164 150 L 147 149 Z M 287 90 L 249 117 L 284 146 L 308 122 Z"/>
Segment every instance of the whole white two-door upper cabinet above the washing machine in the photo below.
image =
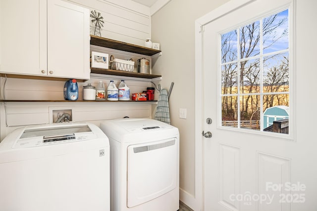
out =
<path fill-rule="evenodd" d="M 89 9 L 62 0 L 0 1 L 0 72 L 90 78 Z"/>

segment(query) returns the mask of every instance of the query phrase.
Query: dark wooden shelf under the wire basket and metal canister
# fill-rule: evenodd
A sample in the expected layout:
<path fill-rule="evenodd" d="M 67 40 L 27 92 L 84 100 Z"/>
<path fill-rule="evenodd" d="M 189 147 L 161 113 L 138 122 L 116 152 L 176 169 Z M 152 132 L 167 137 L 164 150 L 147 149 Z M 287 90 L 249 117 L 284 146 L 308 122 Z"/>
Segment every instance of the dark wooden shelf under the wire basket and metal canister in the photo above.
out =
<path fill-rule="evenodd" d="M 126 77 L 142 78 L 142 79 L 155 79 L 155 78 L 161 77 L 159 75 L 153 75 L 153 74 L 134 73 L 134 72 L 128 72 L 128 71 L 122 71 L 122 70 L 110 70 L 110 69 L 99 69 L 99 68 L 90 68 L 90 73 L 114 75 L 114 76 L 126 76 Z"/>

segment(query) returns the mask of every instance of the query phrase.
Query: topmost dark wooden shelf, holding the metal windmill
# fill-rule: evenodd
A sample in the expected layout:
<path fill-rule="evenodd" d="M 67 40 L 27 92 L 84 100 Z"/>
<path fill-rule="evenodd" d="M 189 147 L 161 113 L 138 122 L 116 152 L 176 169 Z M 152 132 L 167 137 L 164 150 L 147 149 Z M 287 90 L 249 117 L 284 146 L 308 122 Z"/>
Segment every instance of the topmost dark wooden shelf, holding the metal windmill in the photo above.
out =
<path fill-rule="evenodd" d="M 101 47 L 112 48 L 116 50 L 123 50 L 132 53 L 139 53 L 147 56 L 153 56 L 160 53 L 160 50 L 143 47 L 140 45 L 130 44 L 126 42 L 115 41 L 107 38 L 101 38 L 98 36 L 90 35 L 90 44 L 97 45 Z"/>

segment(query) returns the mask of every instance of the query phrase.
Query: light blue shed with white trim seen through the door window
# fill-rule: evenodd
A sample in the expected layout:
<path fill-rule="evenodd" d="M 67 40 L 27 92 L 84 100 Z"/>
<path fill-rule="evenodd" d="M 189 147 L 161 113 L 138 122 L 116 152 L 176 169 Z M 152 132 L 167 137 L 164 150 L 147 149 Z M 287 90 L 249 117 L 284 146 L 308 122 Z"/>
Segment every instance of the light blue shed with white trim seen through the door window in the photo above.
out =
<path fill-rule="evenodd" d="M 273 121 L 289 118 L 288 106 L 273 106 L 265 109 L 263 113 L 263 128 L 273 125 Z"/>

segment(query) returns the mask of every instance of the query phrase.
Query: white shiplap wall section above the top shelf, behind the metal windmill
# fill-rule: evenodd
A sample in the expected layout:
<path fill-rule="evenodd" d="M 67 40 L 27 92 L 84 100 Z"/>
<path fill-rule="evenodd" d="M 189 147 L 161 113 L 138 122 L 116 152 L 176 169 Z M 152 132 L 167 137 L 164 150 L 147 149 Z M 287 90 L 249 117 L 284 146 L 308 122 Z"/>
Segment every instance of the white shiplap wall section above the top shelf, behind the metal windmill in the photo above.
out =
<path fill-rule="evenodd" d="M 132 0 L 68 0 L 100 12 L 104 18 L 101 36 L 122 42 L 144 46 L 151 38 L 150 8 Z M 94 34 L 95 24 L 90 22 L 90 34 Z"/>

